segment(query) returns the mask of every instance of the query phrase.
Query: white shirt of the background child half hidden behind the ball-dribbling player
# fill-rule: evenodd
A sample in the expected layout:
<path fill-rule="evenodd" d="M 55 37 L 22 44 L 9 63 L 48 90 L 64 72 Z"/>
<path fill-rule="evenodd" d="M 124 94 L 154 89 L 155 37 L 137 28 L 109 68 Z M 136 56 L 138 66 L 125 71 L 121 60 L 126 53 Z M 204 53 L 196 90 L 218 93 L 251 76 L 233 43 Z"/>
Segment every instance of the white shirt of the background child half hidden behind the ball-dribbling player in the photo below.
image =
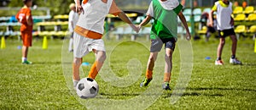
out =
<path fill-rule="evenodd" d="M 73 32 L 78 21 L 79 21 L 79 14 L 71 10 L 68 14 L 68 30 L 70 32 Z"/>

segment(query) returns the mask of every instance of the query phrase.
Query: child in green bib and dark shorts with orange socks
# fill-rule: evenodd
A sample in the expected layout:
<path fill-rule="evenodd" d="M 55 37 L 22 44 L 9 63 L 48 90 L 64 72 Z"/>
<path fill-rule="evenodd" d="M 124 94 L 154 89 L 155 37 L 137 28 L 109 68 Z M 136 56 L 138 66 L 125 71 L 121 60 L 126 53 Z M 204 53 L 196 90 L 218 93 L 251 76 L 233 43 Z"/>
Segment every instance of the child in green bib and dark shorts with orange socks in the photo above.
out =
<path fill-rule="evenodd" d="M 171 90 L 169 83 L 172 72 L 172 53 L 177 41 L 177 16 L 181 19 L 187 31 L 187 40 L 191 38 L 188 25 L 181 12 L 182 8 L 183 6 L 178 3 L 177 0 L 152 0 L 148 8 L 147 17 L 143 19 L 143 22 L 138 26 L 140 29 L 143 25 L 147 25 L 150 19 L 154 19 L 154 24 L 150 32 L 151 47 L 146 78 L 141 83 L 141 87 L 147 86 L 152 80 L 154 62 L 158 52 L 160 52 L 163 44 L 165 44 L 166 66 L 162 88 L 164 90 Z"/>

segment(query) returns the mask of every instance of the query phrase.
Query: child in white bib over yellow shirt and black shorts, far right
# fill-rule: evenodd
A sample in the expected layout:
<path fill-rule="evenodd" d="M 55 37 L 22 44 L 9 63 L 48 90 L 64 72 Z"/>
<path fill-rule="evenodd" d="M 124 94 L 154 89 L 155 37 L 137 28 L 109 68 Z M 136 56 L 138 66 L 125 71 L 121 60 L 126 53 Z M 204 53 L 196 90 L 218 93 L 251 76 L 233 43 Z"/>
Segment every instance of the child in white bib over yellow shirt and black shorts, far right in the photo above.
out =
<path fill-rule="evenodd" d="M 222 50 L 225 44 L 225 37 L 230 36 L 232 40 L 232 47 L 231 47 L 231 58 L 230 63 L 232 64 L 241 64 L 239 60 L 236 59 L 236 33 L 234 31 L 234 19 L 232 19 L 231 14 L 233 13 L 232 10 L 232 3 L 229 0 L 221 0 L 214 4 L 212 7 L 212 11 L 210 12 L 210 23 L 209 25 L 213 25 L 212 21 L 212 14 L 216 11 L 217 15 L 217 30 L 219 36 L 219 44 L 217 49 L 217 59 L 215 61 L 215 65 L 223 65 L 224 62 L 221 59 Z"/>

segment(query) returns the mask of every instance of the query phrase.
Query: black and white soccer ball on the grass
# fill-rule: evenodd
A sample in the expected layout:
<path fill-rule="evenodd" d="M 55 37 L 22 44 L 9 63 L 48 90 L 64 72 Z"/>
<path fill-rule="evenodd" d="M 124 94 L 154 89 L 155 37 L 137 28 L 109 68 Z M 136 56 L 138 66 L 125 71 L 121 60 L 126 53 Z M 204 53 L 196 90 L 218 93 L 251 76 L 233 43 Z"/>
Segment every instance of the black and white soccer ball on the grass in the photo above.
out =
<path fill-rule="evenodd" d="M 78 96 L 81 98 L 93 98 L 98 94 L 99 85 L 96 80 L 84 78 L 79 80 L 79 83 L 76 86 L 76 91 Z"/>

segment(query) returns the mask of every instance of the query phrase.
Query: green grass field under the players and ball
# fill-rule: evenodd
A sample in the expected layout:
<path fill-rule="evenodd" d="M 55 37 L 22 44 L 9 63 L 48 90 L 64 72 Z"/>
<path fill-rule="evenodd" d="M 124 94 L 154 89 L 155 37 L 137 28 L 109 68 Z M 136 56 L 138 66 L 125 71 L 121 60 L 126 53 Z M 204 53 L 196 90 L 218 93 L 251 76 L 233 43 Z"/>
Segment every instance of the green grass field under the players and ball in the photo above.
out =
<path fill-rule="evenodd" d="M 243 65 L 231 65 L 228 38 L 222 57 L 224 66 L 214 65 L 217 40 L 191 42 L 193 69 L 189 84 L 179 100 L 171 104 L 180 78 L 179 49 L 183 48 L 176 47 L 174 52 L 172 91 L 162 91 L 164 51 L 157 59 L 154 80 L 148 88 L 140 88 L 149 41 L 105 41 L 108 59 L 96 78 L 99 94 L 94 99 L 82 100 L 72 88 L 72 53 L 66 50 L 67 41 L 63 45 L 62 40 L 49 40 L 49 49 L 43 50 L 42 40 L 34 40 L 29 50 L 33 64 L 22 65 L 21 50 L 17 48 L 21 42 L 7 40 L 6 48 L 0 50 L 0 109 L 256 109 L 254 41 L 238 42 L 236 56 Z M 84 62 L 91 64 L 94 59 L 90 53 Z M 87 76 L 89 69 L 83 66 L 82 77 Z"/>

